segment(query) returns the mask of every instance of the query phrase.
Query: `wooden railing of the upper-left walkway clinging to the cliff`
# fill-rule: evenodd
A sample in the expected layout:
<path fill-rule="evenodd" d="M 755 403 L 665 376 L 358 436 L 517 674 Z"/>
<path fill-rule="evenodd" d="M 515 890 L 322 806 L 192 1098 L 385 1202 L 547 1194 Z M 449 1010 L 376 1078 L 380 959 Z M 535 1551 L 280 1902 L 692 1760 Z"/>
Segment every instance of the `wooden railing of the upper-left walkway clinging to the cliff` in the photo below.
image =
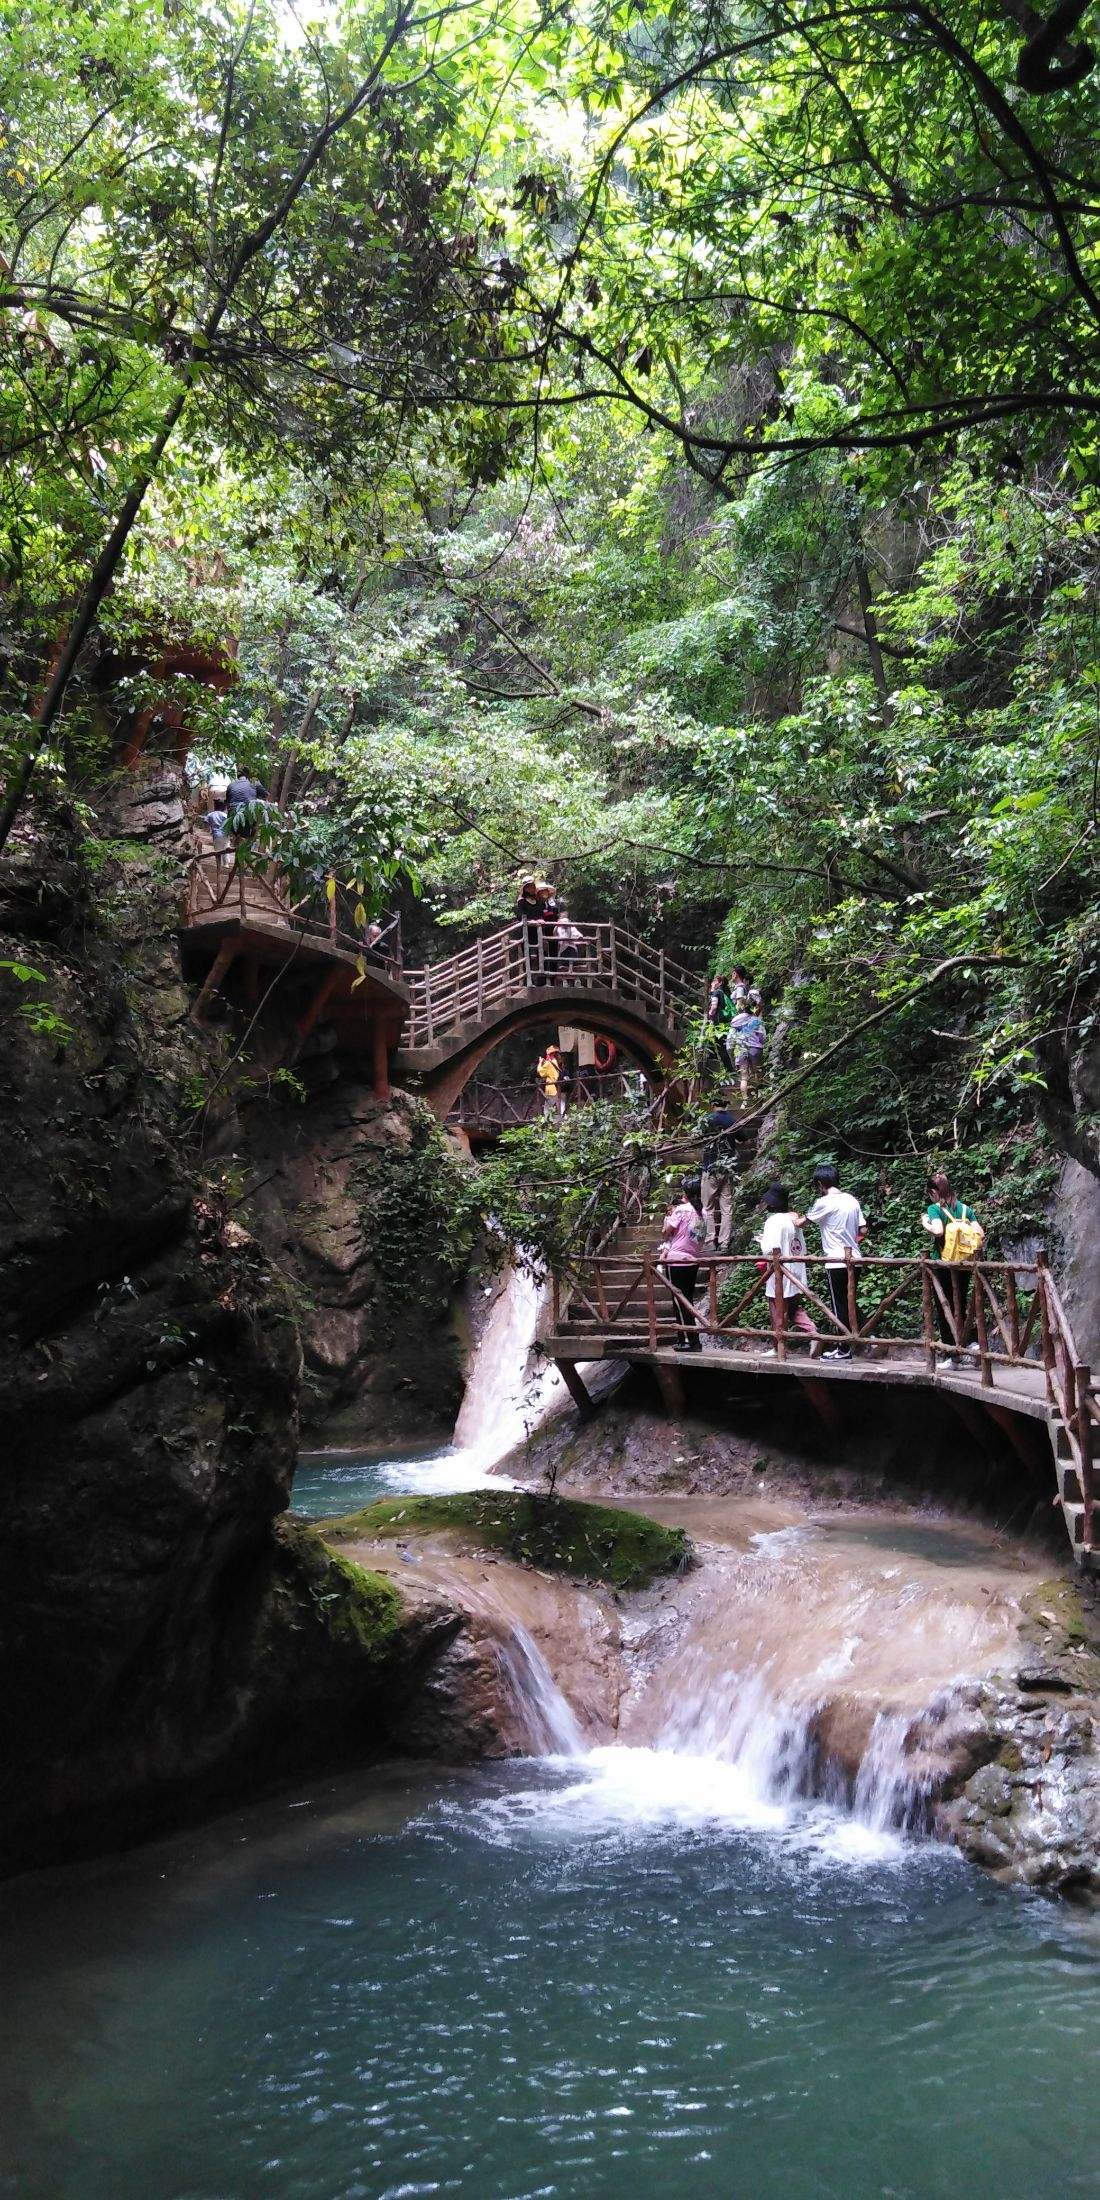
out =
<path fill-rule="evenodd" d="M 227 915 L 240 924 L 288 926 L 306 939 L 328 939 L 348 955 L 361 955 L 367 968 L 400 977 L 400 917 L 378 917 L 383 937 L 372 946 L 370 926 L 356 922 L 356 906 L 354 893 L 323 878 L 295 900 L 277 865 L 240 860 L 233 847 L 200 849 L 187 867 L 185 924 Z"/>

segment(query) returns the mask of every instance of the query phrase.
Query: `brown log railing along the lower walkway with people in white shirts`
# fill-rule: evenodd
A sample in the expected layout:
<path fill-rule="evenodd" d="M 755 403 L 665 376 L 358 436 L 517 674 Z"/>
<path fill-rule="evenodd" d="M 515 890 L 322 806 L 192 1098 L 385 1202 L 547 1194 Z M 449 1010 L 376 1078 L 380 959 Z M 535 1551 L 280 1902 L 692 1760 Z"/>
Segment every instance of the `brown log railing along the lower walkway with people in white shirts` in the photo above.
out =
<path fill-rule="evenodd" d="M 1060 1417 L 1085 1503 L 1085 1542 L 1091 1549 L 1093 1463 L 1100 1428 L 1100 1397 L 1091 1368 L 1080 1360 L 1058 1287 L 1043 1258 L 1034 1263 L 975 1261 L 946 1263 L 924 1254 L 913 1258 L 867 1256 L 845 1263 L 847 1320 L 834 1311 L 827 1263 L 810 1254 L 801 1305 L 825 1346 L 847 1346 L 856 1360 L 922 1362 L 935 1371 L 944 1355 L 961 1355 L 994 1386 L 997 1368 L 1025 1368 L 1043 1377 L 1047 1406 Z M 763 1272 L 761 1272 L 763 1269 Z M 700 1250 L 702 1302 L 689 1300 L 675 1269 L 660 1265 L 656 1250 L 640 1254 L 603 1247 L 570 1261 L 552 1278 L 552 1333 L 576 1335 L 579 1346 L 596 1338 L 605 1349 L 658 1351 L 695 1329 L 715 1346 L 772 1346 L 781 1362 L 803 1362 L 812 1340 L 785 1324 L 779 1254 L 763 1265 L 752 1254 L 704 1254 Z M 772 1331 L 768 1283 L 783 1305 L 783 1324 Z M 796 1276 L 792 1280 L 799 1280 Z M 583 1357 L 583 1349 L 579 1351 Z"/>

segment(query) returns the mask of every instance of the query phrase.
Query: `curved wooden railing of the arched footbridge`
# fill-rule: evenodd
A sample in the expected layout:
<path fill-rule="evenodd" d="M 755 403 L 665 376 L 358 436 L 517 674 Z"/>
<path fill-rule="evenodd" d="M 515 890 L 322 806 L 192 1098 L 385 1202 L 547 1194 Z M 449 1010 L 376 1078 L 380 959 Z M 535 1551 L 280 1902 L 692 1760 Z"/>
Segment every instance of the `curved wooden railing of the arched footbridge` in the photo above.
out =
<path fill-rule="evenodd" d="M 618 924 L 579 924 L 576 931 L 581 937 L 561 946 L 541 924 L 508 924 L 449 961 L 409 970 L 405 1045 L 429 1047 L 458 1025 L 482 1023 L 493 1008 L 528 988 L 614 992 L 669 1030 L 686 1023 L 700 992 L 691 970 Z"/>

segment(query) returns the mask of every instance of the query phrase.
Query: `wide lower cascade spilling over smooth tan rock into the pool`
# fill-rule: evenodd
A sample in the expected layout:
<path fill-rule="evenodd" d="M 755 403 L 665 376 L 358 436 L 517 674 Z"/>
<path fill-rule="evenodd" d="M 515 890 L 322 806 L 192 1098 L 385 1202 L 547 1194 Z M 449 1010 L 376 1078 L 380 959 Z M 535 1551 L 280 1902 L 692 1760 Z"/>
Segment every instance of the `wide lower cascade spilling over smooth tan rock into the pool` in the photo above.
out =
<path fill-rule="evenodd" d="M 990 1597 L 981 1569 L 959 1586 L 950 1531 L 924 1538 L 928 1555 L 906 1569 L 858 1533 L 845 1544 L 812 1529 L 708 1551 L 686 1630 L 627 1674 L 616 1738 L 541 1745 L 583 1762 L 539 1808 L 605 1830 L 722 1822 L 854 1859 L 895 1852 L 928 1822 L 953 1685 L 986 1670 L 1010 1630 L 1008 1599 Z M 530 1685 L 528 1668 L 515 1685 Z M 539 1705 L 524 1731 L 541 1731 Z M 513 1795 L 493 1819 L 532 1806 Z"/>

